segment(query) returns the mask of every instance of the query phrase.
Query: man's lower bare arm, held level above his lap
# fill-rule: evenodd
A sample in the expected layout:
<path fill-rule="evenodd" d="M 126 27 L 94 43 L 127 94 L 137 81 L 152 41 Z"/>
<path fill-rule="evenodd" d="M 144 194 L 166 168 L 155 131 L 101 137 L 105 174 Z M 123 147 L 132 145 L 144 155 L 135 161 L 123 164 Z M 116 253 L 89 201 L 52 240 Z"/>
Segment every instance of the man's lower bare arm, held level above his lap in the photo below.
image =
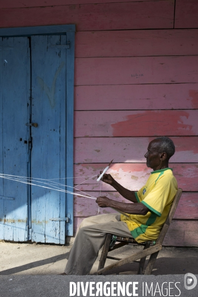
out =
<path fill-rule="evenodd" d="M 100 207 L 113 207 L 129 214 L 146 215 L 150 211 L 143 203 L 122 203 L 109 199 L 106 196 L 98 197 L 96 203 Z"/>

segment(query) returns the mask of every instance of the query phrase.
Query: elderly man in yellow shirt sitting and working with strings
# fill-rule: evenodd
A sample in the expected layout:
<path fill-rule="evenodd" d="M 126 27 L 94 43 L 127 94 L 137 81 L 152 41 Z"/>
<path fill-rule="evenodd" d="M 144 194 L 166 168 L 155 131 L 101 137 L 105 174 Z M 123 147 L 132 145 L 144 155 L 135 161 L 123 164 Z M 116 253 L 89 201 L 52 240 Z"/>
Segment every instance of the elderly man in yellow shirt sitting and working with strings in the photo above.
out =
<path fill-rule="evenodd" d="M 86 275 L 95 262 L 107 233 L 133 237 L 137 242 L 157 240 L 177 192 L 177 181 L 168 168 L 168 160 L 175 147 L 168 137 L 158 137 L 150 142 L 145 154 L 147 167 L 153 169 L 146 183 L 138 192 L 125 189 L 110 174 L 103 182 L 114 187 L 121 196 L 133 203 L 122 203 L 105 196 L 98 197 L 100 207 L 113 207 L 124 215 L 102 214 L 82 221 L 65 268 L 64 274 Z"/>

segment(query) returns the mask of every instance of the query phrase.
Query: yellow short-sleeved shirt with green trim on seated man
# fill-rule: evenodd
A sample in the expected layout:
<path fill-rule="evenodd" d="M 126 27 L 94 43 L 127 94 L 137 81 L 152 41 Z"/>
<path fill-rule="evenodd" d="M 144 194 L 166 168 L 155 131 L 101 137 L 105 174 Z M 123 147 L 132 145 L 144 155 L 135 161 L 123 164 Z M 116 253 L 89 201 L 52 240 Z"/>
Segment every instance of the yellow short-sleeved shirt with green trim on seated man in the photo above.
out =
<path fill-rule="evenodd" d="M 171 168 L 151 172 L 146 183 L 135 193 L 137 202 L 149 208 L 146 215 L 121 215 L 132 237 L 138 242 L 157 240 L 177 192 L 177 181 Z"/>

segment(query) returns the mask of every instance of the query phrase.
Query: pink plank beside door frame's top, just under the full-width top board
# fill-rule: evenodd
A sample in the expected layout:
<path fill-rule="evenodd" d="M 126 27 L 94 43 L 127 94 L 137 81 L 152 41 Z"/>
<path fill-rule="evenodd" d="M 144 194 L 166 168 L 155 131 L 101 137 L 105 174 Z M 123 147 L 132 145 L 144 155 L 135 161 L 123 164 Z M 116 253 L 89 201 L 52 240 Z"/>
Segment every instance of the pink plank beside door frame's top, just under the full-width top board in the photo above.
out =
<path fill-rule="evenodd" d="M 76 57 L 197 55 L 198 30 L 77 32 L 75 45 Z"/>

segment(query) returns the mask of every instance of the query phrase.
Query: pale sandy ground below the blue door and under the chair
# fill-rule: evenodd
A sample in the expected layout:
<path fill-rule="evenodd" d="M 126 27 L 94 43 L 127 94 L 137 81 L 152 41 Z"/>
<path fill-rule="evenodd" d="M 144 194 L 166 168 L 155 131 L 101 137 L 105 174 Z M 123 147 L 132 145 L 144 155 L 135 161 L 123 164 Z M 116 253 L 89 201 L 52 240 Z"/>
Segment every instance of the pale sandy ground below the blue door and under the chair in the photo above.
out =
<path fill-rule="evenodd" d="M 112 251 L 111 255 L 125 257 L 131 255 L 137 248 L 142 247 L 121 247 Z M 0 241 L 0 275 L 56 275 L 62 273 L 70 249 L 71 246 Z M 90 274 L 97 271 L 99 257 Z M 107 259 L 106 264 L 114 262 L 114 260 Z M 137 267 L 137 263 L 131 263 L 108 271 L 107 274 L 135 274 Z M 198 273 L 198 247 L 163 248 L 158 254 L 152 274 L 186 274 L 187 272 Z"/>

